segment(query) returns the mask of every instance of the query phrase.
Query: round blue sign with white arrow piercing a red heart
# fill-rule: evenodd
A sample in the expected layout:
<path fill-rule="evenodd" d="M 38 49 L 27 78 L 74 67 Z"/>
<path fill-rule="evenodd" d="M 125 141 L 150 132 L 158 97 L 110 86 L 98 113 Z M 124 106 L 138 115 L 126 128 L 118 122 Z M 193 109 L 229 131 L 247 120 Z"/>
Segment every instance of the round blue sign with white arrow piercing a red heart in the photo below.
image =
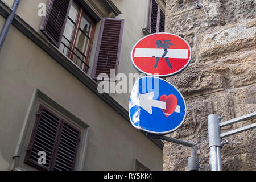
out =
<path fill-rule="evenodd" d="M 158 77 L 138 78 L 131 91 L 129 117 L 137 129 L 168 134 L 185 120 L 186 104 L 177 88 Z"/>

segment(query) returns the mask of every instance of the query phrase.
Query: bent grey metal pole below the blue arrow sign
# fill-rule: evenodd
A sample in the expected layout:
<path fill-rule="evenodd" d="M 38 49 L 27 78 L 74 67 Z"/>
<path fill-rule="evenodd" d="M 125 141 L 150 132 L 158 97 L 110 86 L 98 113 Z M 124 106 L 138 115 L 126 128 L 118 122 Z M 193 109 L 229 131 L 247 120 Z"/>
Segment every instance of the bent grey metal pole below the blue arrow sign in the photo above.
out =
<path fill-rule="evenodd" d="M 145 133 L 145 135 L 160 140 L 166 140 L 167 142 L 172 142 L 176 144 L 181 144 L 183 146 L 191 147 L 191 157 L 188 158 L 188 171 L 199 171 L 199 159 L 196 157 L 196 143 L 188 142 L 186 140 L 181 140 L 177 138 L 171 138 L 164 135 L 155 135 L 148 133 Z"/>

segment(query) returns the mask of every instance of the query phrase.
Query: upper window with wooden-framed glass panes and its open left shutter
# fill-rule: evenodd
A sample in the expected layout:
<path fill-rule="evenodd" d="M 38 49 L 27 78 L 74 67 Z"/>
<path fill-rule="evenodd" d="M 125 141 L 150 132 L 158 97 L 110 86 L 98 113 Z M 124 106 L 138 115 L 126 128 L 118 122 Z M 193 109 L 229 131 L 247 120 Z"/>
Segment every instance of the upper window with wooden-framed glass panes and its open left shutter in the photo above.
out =
<path fill-rule="evenodd" d="M 61 52 L 87 71 L 95 21 L 79 3 L 51 0 L 41 30 Z"/>

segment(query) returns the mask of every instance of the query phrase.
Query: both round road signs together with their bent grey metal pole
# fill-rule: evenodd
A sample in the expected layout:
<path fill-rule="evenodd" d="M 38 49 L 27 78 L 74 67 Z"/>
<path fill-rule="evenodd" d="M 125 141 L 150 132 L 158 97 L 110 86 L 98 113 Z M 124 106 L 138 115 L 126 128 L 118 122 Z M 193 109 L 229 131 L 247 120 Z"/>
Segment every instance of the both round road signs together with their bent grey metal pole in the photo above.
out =
<path fill-rule="evenodd" d="M 177 45 L 171 43 L 171 40 Z M 159 48 L 163 48 L 164 53 Z M 172 57 L 175 57 L 175 61 L 170 63 L 169 58 L 171 59 Z M 188 169 L 189 171 L 198 171 L 199 159 L 196 157 L 196 143 L 163 136 L 178 129 L 184 122 L 187 110 L 184 97 L 170 82 L 156 78 L 156 75 L 158 77 L 167 77 L 182 71 L 190 63 L 191 57 L 192 51 L 187 41 L 174 34 L 166 32 L 150 34 L 135 43 L 131 49 L 131 62 L 139 72 L 151 76 L 139 78 L 135 82 L 131 91 L 129 117 L 135 128 L 143 130 L 143 133 L 150 135 L 150 137 L 191 147 L 192 151 L 191 157 L 188 159 Z M 168 67 L 158 66 L 158 62 L 163 61 L 163 59 L 168 64 Z M 182 59 L 183 61 L 176 59 Z M 154 65 L 154 68 L 152 68 L 152 65 Z M 143 87 L 145 89 L 148 88 L 146 84 L 144 86 L 141 85 L 143 85 L 143 82 L 147 83 L 150 78 L 154 80 L 154 83 L 157 81 L 158 89 L 162 90 L 162 95 L 156 98 L 154 97 L 155 92 L 148 91 L 145 93 L 144 91 L 146 90 L 139 89 Z M 156 88 L 157 86 L 155 85 L 154 87 Z M 147 122 L 148 120 L 157 122 Z M 172 125 L 166 124 L 170 122 L 172 122 Z"/>

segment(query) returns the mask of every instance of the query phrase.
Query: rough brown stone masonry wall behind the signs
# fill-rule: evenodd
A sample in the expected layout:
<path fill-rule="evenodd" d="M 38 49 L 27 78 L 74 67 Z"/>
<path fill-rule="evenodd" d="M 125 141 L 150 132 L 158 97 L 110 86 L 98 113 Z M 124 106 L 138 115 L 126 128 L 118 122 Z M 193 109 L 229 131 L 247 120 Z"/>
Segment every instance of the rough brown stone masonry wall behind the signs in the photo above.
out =
<path fill-rule="evenodd" d="M 182 36 L 193 52 L 189 66 L 166 79 L 187 102 L 187 118 L 170 137 L 198 143 L 201 170 L 210 168 L 207 116 L 227 121 L 256 111 L 255 11 L 255 0 L 167 0 L 166 32 Z M 223 170 L 256 169 L 255 134 L 253 129 L 224 138 L 229 143 L 221 150 Z M 163 169 L 187 170 L 190 153 L 188 147 L 165 142 Z"/>

